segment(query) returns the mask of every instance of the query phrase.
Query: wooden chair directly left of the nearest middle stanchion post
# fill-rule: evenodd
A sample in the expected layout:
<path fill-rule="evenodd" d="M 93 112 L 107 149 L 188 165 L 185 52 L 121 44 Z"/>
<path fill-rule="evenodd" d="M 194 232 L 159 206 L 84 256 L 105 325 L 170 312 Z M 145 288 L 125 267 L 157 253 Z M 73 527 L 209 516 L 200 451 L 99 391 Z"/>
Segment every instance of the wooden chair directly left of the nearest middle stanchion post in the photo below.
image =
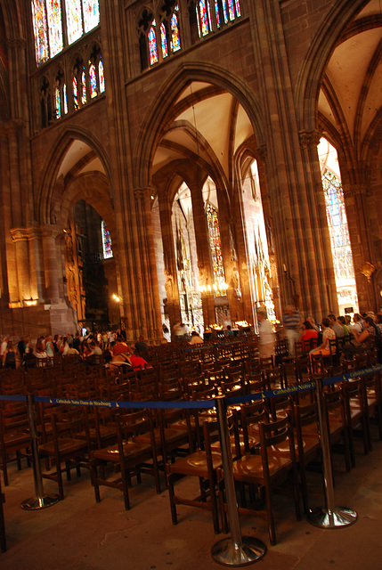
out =
<path fill-rule="evenodd" d="M 168 494 L 173 524 L 178 522 L 176 505 L 189 505 L 208 509 L 212 514 L 215 533 L 220 532 L 217 506 L 216 468 L 222 465 L 220 451 L 213 451 L 211 444 L 218 436 L 217 421 L 203 423 L 203 446 L 190 455 L 166 465 Z M 175 493 L 175 479 L 178 476 L 191 476 L 199 479 L 200 493 L 195 498 L 184 498 Z"/>

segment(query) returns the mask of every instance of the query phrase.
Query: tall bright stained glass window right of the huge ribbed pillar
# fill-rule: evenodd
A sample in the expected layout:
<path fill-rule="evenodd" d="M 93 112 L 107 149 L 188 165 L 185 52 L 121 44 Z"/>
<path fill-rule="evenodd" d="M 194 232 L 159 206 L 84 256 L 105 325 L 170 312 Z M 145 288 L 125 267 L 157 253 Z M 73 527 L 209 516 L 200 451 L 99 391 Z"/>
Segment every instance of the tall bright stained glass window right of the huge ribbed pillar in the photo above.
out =
<path fill-rule="evenodd" d="M 354 278 L 354 265 L 342 184 L 336 175 L 326 170 L 322 176 L 322 186 L 336 281 L 351 279 Z"/>

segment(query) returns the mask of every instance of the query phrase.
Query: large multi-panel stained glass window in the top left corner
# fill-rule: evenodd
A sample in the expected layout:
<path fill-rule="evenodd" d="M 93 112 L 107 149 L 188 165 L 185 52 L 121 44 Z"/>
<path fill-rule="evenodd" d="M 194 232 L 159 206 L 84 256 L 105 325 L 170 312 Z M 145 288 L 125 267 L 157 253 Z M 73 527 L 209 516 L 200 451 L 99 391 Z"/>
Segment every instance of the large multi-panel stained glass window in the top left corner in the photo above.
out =
<path fill-rule="evenodd" d="M 100 23 L 98 0 L 31 0 L 31 8 L 37 65 Z"/>

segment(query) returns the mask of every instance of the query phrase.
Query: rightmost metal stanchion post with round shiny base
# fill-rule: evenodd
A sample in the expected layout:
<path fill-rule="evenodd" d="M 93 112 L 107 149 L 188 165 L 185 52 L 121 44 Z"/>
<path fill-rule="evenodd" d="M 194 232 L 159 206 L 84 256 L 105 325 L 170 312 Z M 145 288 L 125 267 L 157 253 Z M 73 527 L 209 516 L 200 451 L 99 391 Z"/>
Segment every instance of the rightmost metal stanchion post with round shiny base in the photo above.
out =
<path fill-rule="evenodd" d="M 321 526 L 321 528 L 341 528 L 343 526 L 353 525 L 357 520 L 358 515 L 353 509 L 335 507 L 334 505 L 333 474 L 330 458 L 330 436 L 322 392 L 322 379 L 316 379 L 316 390 L 326 507 L 314 510 L 311 509 L 307 518 L 314 526 Z"/>

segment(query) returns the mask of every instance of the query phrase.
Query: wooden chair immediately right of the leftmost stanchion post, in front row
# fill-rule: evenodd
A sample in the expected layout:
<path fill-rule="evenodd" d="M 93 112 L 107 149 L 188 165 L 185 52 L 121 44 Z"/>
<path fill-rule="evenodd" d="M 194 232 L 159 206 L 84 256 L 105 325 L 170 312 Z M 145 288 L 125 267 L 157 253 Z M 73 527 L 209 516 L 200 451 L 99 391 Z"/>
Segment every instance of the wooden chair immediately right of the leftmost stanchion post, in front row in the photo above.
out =
<path fill-rule="evenodd" d="M 40 444 L 38 452 L 41 459 L 53 462 L 55 470 L 45 471 L 42 476 L 56 481 L 62 500 L 64 498 L 62 473 L 65 472 L 67 480 L 70 481 L 72 468 L 76 468 L 77 476 L 81 474 L 81 467 L 89 468 L 90 443 L 77 437 L 77 434 L 83 432 L 85 428 L 84 411 L 81 409 L 71 411 L 65 414 L 65 417 L 53 414 L 51 426 L 52 440 Z"/>

